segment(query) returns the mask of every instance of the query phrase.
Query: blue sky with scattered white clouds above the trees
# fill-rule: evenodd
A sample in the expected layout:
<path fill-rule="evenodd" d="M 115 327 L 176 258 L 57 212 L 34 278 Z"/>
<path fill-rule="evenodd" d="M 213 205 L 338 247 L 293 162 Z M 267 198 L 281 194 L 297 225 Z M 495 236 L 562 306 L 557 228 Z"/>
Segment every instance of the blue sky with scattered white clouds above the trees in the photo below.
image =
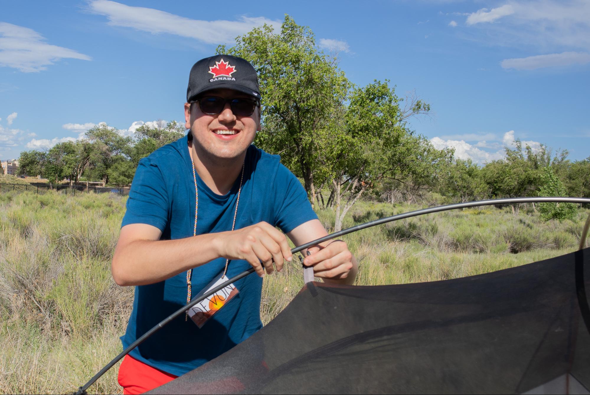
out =
<path fill-rule="evenodd" d="M 337 51 L 355 84 L 391 80 L 431 117 L 411 127 L 478 163 L 514 138 L 590 155 L 590 2 L 3 1 L 0 158 L 106 122 L 183 120 L 189 70 L 284 14 Z"/>

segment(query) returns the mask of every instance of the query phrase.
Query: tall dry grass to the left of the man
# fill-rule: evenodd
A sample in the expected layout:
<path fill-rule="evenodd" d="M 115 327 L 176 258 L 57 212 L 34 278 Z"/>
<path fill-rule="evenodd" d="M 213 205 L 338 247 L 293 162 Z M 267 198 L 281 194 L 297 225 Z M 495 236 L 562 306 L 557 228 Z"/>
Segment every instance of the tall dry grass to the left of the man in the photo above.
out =
<path fill-rule="evenodd" d="M 110 259 L 124 201 L 0 195 L 0 393 L 66 393 L 121 348 L 132 289 Z M 116 370 L 93 391 L 118 393 Z"/>

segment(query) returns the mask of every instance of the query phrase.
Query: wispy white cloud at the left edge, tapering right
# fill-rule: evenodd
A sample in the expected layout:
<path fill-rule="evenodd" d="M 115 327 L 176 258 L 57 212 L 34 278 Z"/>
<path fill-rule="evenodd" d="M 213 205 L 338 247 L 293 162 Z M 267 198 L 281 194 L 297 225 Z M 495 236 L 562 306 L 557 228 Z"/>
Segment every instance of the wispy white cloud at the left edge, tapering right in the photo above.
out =
<path fill-rule="evenodd" d="M 44 41 L 33 29 L 0 22 L 0 66 L 32 73 L 47 70 L 47 65 L 64 58 L 91 60 L 88 55 Z"/>

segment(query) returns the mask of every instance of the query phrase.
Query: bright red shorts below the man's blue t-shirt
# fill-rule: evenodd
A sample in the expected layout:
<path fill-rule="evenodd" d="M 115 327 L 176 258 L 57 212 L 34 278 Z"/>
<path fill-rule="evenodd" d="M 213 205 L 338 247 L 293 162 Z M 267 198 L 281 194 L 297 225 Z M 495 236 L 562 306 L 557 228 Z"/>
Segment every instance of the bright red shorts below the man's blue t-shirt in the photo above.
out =
<path fill-rule="evenodd" d="M 123 394 L 143 394 L 174 380 L 178 376 L 140 362 L 129 354 L 119 366 L 119 385 Z"/>

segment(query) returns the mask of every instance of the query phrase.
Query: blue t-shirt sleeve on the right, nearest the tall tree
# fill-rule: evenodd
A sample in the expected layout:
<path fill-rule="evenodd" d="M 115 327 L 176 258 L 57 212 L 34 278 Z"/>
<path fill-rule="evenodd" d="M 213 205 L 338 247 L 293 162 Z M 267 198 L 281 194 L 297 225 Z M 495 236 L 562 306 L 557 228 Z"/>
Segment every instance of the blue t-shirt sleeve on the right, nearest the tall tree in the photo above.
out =
<path fill-rule="evenodd" d="M 283 164 L 278 165 L 274 182 L 276 226 L 284 233 L 290 232 L 301 223 L 317 219 L 307 193 L 297 177 Z"/>

